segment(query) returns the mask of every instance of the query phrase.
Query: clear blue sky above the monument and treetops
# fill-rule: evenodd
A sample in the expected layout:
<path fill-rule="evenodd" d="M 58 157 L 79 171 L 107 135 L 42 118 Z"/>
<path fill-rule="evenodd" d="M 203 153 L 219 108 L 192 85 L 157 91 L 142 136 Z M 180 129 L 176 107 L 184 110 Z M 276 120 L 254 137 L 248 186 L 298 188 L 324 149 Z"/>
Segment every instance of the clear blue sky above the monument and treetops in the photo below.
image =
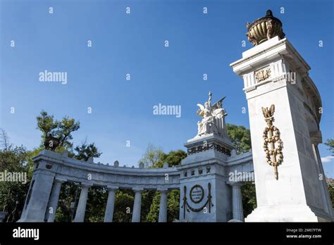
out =
<path fill-rule="evenodd" d="M 129 166 L 149 143 L 166 152 L 185 150 L 197 133 L 196 104 L 209 90 L 213 101 L 226 96 L 227 122 L 249 127 L 243 82 L 229 64 L 252 47 L 241 45 L 245 23 L 268 8 L 311 66 L 323 101 L 323 140 L 334 138 L 332 1 L 1 0 L 0 127 L 13 144 L 32 149 L 39 145 L 35 118 L 42 109 L 56 118 L 68 115 L 81 124 L 75 144 L 87 137 L 103 152 L 97 161 Z M 68 83 L 39 82 L 44 70 L 68 73 Z M 159 103 L 182 106 L 182 116 L 153 115 Z M 330 156 L 326 146 L 320 151 Z M 323 163 L 331 177 L 333 162 Z"/>

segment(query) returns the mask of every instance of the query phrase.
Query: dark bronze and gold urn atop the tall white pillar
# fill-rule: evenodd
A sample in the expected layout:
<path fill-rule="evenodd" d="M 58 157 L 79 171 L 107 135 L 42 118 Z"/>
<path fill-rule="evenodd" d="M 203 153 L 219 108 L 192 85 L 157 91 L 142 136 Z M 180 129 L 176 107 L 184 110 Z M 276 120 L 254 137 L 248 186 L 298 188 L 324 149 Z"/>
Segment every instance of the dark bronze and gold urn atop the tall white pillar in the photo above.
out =
<path fill-rule="evenodd" d="M 273 12 L 269 9 L 266 16 L 255 20 L 252 24 L 246 24 L 248 32 L 246 36 L 248 41 L 254 46 L 266 42 L 272 37 L 280 37 L 280 39 L 285 37 L 282 29 L 282 23 L 278 18 L 273 17 Z"/>

